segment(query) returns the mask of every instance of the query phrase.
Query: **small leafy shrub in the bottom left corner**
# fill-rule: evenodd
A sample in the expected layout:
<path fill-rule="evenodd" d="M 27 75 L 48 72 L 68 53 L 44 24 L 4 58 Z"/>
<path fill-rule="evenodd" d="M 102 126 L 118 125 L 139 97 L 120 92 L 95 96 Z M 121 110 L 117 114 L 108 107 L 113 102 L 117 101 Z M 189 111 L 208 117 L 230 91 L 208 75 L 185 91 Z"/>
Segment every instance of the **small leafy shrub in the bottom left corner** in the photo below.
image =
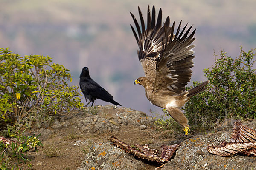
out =
<path fill-rule="evenodd" d="M 26 152 L 28 150 L 35 149 L 37 151 L 38 146 L 43 146 L 41 141 L 38 139 L 38 136 L 23 136 L 22 133 L 10 134 L 9 136 L 12 139 L 17 139 L 16 142 L 11 142 L 10 144 L 0 142 L 0 169 L 1 170 L 10 170 L 15 167 L 20 170 L 23 167 L 31 167 L 29 163 L 31 160 L 28 159 Z M 21 168 L 20 168 L 21 167 Z"/>

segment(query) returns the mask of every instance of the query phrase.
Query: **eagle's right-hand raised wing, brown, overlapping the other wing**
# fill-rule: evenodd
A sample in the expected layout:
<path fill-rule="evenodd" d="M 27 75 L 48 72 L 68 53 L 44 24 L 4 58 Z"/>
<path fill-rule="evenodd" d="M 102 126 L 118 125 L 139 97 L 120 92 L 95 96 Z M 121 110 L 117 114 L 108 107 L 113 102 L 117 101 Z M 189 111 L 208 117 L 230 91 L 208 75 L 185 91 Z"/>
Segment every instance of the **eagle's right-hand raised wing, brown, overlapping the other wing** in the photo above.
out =
<path fill-rule="evenodd" d="M 195 45 L 191 45 L 195 40 L 195 30 L 189 35 L 192 26 L 184 33 L 186 26 L 181 33 L 180 26 L 177 28 L 176 36 L 174 36 L 174 26 L 172 25 L 171 36 L 164 24 L 165 35 L 167 41 L 164 39 L 162 55 L 157 58 L 156 64 L 156 77 L 154 81 L 154 93 L 161 92 L 162 94 L 178 95 L 185 90 L 185 86 L 190 81 L 192 75 L 192 68 L 194 62 L 192 59 L 195 57 L 192 50 Z M 169 37 L 173 37 L 171 40 Z"/>

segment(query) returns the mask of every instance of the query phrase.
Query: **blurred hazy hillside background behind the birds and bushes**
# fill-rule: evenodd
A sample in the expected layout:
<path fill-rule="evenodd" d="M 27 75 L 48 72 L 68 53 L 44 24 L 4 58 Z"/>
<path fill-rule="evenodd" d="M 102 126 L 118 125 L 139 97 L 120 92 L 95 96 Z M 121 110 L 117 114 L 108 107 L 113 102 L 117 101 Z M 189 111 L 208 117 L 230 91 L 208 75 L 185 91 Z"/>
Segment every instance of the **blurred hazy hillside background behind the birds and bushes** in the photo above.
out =
<path fill-rule="evenodd" d="M 183 20 L 183 26 L 189 22 L 197 29 L 192 81 L 206 80 L 203 69 L 213 65 L 214 50 L 236 57 L 240 45 L 245 51 L 256 47 L 255 0 L 0 0 L 0 48 L 22 56 L 49 55 L 70 70 L 71 85 L 79 85 L 87 66 L 122 106 L 160 113 L 144 88 L 133 85 L 144 72 L 129 12 L 138 19 L 140 6 L 145 19 L 148 4 L 157 14 L 162 8 L 164 20 L 169 15 L 176 26 Z M 96 105 L 108 104 L 96 100 Z"/>

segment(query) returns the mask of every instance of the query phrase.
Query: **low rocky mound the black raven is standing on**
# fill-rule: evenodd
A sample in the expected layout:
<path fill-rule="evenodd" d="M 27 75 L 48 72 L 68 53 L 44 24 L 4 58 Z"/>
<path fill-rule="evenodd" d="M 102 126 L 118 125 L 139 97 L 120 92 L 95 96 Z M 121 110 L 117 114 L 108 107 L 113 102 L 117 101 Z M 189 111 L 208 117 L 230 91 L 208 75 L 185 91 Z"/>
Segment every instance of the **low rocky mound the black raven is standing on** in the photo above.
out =
<path fill-rule="evenodd" d="M 146 113 L 116 106 L 87 107 L 84 111 L 68 116 L 56 116 L 44 123 L 45 128 L 33 129 L 24 135 L 41 134 L 40 140 L 46 140 L 51 134 L 71 127 L 79 133 L 104 134 L 117 132 L 121 126 L 134 126 L 140 129 L 153 126 L 153 120 Z"/>

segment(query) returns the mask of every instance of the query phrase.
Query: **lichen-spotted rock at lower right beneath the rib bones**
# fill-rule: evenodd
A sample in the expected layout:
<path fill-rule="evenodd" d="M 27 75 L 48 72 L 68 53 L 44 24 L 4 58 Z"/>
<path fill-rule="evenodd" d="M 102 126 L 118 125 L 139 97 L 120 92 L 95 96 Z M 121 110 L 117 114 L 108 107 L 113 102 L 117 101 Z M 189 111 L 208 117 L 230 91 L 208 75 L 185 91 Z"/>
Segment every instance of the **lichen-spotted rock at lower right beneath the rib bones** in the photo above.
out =
<path fill-rule="evenodd" d="M 208 145 L 218 145 L 230 140 L 233 128 L 205 136 L 197 135 L 181 143 L 176 156 L 162 170 L 252 170 L 256 169 L 256 158 L 234 155 L 221 157 L 208 153 Z"/>

